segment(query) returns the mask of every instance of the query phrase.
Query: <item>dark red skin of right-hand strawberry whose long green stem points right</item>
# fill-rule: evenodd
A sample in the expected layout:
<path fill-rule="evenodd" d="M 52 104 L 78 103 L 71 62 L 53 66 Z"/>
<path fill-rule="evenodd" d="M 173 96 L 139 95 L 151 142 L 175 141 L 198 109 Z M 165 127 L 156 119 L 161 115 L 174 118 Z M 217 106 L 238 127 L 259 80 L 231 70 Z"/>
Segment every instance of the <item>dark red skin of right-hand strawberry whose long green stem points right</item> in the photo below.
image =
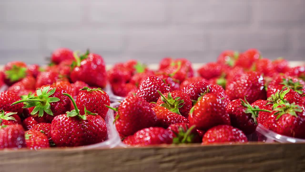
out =
<path fill-rule="evenodd" d="M 247 108 L 242 106 L 242 101 L 236 99 L 231 101 L 226 107 L 226 112 L 229 114 L 231 119 L 231 125 L 238 129 L 241 129 L 246 135 L 255 132 L 257 124 L 251 117 L 252 114 L 246 114 L 244 111 Z"/>

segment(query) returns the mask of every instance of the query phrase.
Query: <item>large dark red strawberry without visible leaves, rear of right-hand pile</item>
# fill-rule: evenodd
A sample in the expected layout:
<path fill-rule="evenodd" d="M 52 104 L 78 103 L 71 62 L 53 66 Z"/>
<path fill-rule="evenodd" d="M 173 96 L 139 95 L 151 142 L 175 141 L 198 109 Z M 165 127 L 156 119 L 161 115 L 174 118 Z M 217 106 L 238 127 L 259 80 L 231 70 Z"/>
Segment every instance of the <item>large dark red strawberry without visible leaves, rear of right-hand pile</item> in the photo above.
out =
<path fill-rule="evenodd" d="M 226 93 L 231 100 L 243 99 L 247 96 L 249 103 L 258 99 L 266 99 L 264 79 L 254 71 L 244 73 L 235 81 L 227 84 Z"/>

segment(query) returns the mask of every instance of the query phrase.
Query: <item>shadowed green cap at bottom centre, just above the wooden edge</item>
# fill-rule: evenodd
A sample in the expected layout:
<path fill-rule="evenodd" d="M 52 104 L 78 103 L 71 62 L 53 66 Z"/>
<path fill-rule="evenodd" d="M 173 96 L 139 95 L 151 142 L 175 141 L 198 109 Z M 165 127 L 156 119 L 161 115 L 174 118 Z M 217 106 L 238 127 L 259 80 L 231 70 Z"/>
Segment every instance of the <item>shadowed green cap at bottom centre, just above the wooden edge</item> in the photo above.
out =
<path fill-rule="evenodd" d="M 179 133 L 172 131 L 175 134 L 173 138 L 173 144 L 185 144 L 185 143 L 193 143 L 195 135 L 192 134 L 192 130 L 195 128 L 195 125 L 192 125 L 190 128 L 185 124 L 185 128 L 179 127 Z"/>

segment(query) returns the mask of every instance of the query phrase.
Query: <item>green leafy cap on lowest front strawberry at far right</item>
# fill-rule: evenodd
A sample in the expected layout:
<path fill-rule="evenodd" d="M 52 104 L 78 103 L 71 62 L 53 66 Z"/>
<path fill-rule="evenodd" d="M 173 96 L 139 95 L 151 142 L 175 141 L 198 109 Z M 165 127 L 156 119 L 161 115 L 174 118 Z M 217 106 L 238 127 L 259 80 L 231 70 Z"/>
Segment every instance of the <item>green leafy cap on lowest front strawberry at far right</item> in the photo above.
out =
<path fill-rule="evenodd" d="M 276 116 L 276 120 L 278 120 L 283 114 L 290 114 L 291 116 L 298 117 L 296 112 L 303 112 L 303 108 L 295 103 L 285 103 L 280 105 L 281 107 L 277 107 L 273 111 L 277 111 L 274 113 Z"/>

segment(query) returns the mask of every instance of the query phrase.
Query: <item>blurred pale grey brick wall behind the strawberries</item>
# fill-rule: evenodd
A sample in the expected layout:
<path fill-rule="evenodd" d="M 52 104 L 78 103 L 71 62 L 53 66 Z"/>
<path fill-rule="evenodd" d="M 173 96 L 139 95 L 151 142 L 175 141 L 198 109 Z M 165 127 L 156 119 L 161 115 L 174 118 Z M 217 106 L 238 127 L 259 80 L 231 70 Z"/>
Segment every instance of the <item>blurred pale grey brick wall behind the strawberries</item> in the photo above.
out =
<path fill-rule="evenodd" d="M 222 50 L 304 60 L 303 0 L 1 0 L 0 64 L 45 64 L 58 47 L 107 64 L 164 56 L 215 61 Z"/>

